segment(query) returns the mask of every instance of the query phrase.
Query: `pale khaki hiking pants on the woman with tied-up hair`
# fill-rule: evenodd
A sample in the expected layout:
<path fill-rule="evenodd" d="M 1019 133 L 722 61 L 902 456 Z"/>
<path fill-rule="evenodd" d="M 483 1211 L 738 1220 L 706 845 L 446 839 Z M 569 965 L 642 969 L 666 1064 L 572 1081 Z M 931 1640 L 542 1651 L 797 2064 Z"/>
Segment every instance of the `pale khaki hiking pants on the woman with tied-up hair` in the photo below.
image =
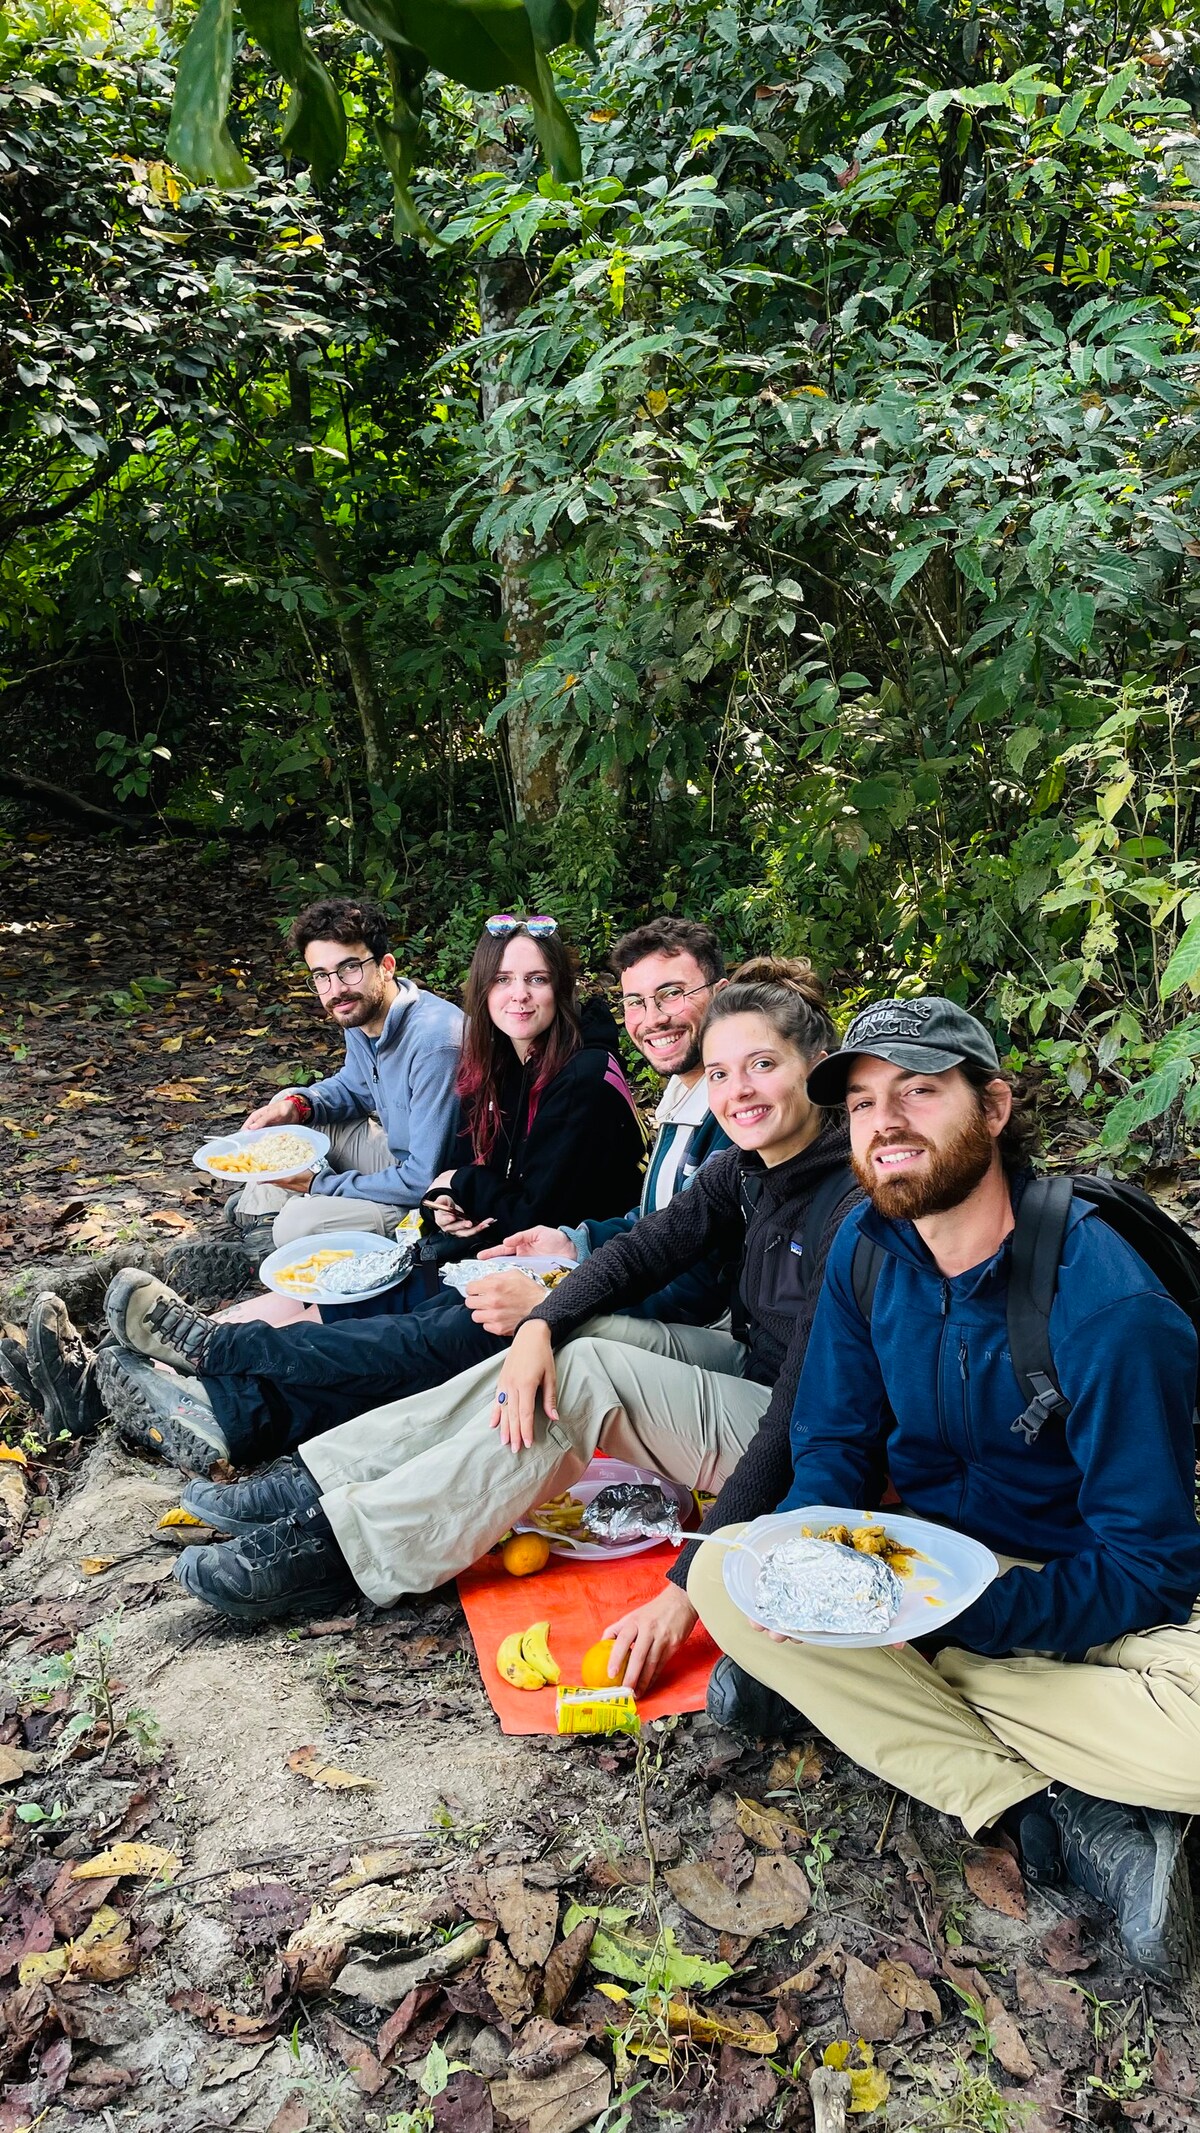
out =
<path fill-rule="evenodd" d="M 490 1427 L 501 1359 L 360 1414 L 301 1446 L 358 1585 L 377 1604 L 467 1570 L 516 1519 L 614 1459 L 718 1489 L 757 1436 L 769 1391 L 710 1327 L 593 1318 L 558 1350 L 558 1421 L 537 1410 L 529 1450 Z"/>

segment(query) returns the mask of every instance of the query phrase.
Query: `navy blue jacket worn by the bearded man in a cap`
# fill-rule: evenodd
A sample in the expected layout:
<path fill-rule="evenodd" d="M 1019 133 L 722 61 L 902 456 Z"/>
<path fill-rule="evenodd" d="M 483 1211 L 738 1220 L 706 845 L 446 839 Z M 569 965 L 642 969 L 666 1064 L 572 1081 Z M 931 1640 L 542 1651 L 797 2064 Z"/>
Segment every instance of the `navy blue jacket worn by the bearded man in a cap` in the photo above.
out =
<path fill-rule="evenodd" d="M 853 1290 L 859 1231 L 885 1248 L 872 1322 Z M 904 1506 L 1042 1570 L 1008 1570 L 953 1623 L 970 1651 L 1081 1657 L 1187 1621 L 1200 1591 L 1194 1508 L 1196 1333 L 1136 1252 L 1072 1201 L 1051 1310 L 1070 1414 L 1034 1444 L 1008 1354 L 1008 1241 L 944 1278 L 910 1222 L 870 1203 L 829 1261 L 791 1442 L 804 1504 Z"/>

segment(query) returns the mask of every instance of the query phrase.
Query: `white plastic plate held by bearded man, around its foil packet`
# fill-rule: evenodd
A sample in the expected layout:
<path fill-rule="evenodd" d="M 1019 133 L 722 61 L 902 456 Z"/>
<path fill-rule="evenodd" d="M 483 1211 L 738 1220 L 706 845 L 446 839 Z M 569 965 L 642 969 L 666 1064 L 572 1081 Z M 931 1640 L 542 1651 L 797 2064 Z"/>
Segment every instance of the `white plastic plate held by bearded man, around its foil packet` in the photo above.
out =
<path fill-rule="evenodd" d="M 899 1540 L 902 1546 L 917 1549 L 919 1559 L 912 1563 L 908 1576 L 899 1581 L 904 1598 L 895 1621 L 887 1630 L 878 1630 L 872 1636 L 812 1632 L 797 1638 L 801 1645 L 840 1645 L 846 1651 L 865 1651 L 872 1645 L 908 1645 L 914 1636 L 929 1636 L 934 1630 L 944 1630 L 955 1615 L 961 1615 L 1000 1576 L 1000 1563 L 983 1542 L 970 1540 L 966 1534 L 955 1534 L 948 1525 L 934 1525 L 929 1519 L 908 1519 L 895 1510 L 848 1510 L 844 1504 L 806 1504 L 801 1510 L 774 1510 L 767 1519 L 752 1519 L 740 1538 L 757 1549 L 759 1555 L 767 1555 L 780 1540 L 793 1540 L 801 1534 L 806 1525 L 814 1531 L 823 1531 L 827 1525 L 882 1525 L 889 1540 Z M 759 1563 L 752 1555 L 727 1549 L 723 1572 L 725 1591 L 733 1600 L 733 1606 L 742 1608 L 750 1621 L 761 1623 L 765 1630 L 782 1630 L 784 1636 L 795 1634 L 784 1621 L 767 1621 L 761 1606 L 757 1606 Z"/>

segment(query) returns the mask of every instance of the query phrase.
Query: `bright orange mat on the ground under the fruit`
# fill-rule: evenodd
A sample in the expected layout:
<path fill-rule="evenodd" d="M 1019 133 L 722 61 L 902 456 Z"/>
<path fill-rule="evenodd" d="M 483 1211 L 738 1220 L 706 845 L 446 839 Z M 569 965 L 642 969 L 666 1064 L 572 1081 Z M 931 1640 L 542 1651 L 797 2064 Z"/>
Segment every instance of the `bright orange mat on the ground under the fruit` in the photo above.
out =
<path fill-rule="evenodd" d="M 550 1619 L 550 1651 L 567 1687 L 580 1679 L 580 1659 L 588 1645 L 663 1589 L 663 1576 L 678 1549 L 646 1549 L 646 1555 L 625 1555 L 610 1563 L 571 1563 L 552 1555 L 546 1570 L 531 1578 L 512 1578 L 499 1553 L 458 1578 L 458 1598 L 475 1640 L 480 1674 L 492 1698 L 501 1732 L 554 1732 L 554 1689 L 514 1689 L 497 1674 L 497 1651 L 514 1630 Z M 703 1711 L 708 1677 L 720 1657 L 708 1630 L 697 1621 L 671 1666 L 659 1674 L 648 1696 L 637 1698 L 644 1719 L 669 1717 L 676 1711 Z"/>

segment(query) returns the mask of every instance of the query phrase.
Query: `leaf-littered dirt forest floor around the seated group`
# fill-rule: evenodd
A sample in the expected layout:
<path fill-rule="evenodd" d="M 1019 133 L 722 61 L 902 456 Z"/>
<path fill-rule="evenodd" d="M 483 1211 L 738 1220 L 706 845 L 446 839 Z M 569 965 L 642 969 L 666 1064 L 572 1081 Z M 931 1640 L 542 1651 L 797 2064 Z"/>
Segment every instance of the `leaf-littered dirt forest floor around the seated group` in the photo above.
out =
<path fill-rule="evenodd" d="M 94 1329 L 115 1258 L 220 1214 L 202 1135 L 337 1037 L 252 851 L 15 853 L 0 1280 Z M 173 1470 L 28 1427 L 0 1410 L 0 2133 L 804 2133 L 825 2056 L 867 2127 L 1198 2124 L 1196 2007 L 827 1743 L 505 1738 L 452 1589 L 239 1632 L 168 1576 Z"/>

